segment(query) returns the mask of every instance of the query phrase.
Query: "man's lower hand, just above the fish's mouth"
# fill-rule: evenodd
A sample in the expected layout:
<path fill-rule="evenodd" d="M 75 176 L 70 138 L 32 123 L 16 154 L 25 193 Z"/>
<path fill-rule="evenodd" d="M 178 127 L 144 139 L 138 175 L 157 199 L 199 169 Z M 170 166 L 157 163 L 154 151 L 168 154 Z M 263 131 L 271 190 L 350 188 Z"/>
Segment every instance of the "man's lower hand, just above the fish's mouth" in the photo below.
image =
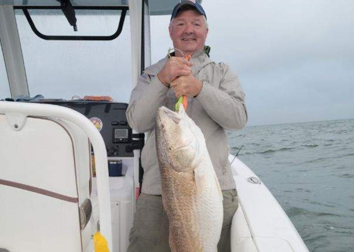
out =
<path fill-rule="evenodd" d="M 203 83 L 193 75 L 180 76 L 171 83 L 176 97 L 182 95 L 197 96 L 202 90 Z"/>

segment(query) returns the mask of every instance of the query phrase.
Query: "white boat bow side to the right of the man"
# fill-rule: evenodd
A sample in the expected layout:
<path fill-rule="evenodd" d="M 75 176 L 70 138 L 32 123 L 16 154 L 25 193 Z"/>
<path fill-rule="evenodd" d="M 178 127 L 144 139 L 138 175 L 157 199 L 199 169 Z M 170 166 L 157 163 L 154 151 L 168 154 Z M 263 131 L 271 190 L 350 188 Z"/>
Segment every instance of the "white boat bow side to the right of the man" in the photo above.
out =
<path fill-rule="evenodd" d="M 230 155 L 230 161 L 234 156 Z M 239 209 L 231 230 L 232 251 L 308 251 L 277 200 L 238 158 L 232 163 Z M 259 182 L 259 183 L 257 183 Z"/>

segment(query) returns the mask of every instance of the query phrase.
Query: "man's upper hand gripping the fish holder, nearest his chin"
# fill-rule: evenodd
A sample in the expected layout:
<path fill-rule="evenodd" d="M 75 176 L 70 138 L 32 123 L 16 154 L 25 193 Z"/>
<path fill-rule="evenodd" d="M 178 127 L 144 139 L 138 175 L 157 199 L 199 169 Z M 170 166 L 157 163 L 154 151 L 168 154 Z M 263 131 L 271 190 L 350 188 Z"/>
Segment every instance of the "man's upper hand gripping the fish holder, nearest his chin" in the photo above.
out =
<path fill-rule="evenodd" d="M 177 77 L 192 74 L 191 67 L 192 63 L 183 57 L 170 57 L 157 77 L 163 85 L 168 87 Z"/>

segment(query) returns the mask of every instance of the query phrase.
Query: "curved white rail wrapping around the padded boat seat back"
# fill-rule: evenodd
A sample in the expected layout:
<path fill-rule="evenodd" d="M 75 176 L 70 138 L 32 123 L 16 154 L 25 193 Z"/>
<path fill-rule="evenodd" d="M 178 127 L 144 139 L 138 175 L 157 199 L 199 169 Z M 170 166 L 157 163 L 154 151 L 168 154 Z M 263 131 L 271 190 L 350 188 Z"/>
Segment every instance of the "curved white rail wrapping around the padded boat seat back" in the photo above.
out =
<path fill-rule="evenodd" d="M 0 114 L 5 114 L 14 131 L 20 131 L 27 117 L 49 117 L 74 123 L 89 138 L 95 150 L 97 195 L 99 202 L 100 232 L 112 251 L 112 226 L 107 152 L 101 134 L 84 115 L 57 105 L 0 101 Z"/>

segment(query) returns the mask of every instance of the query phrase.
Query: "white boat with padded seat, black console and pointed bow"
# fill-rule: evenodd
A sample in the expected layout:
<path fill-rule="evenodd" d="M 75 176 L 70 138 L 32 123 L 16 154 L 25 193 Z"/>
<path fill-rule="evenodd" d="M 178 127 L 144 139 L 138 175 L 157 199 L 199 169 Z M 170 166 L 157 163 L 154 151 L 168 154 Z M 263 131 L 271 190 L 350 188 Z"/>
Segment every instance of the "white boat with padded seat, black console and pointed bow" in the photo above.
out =
<path fill-rule="evenodd" d="M 170 0 L 0 3 L 0 41 L 8 80 L 5 84 L 13 99 L 23 97 L 22 101 L 13 101 L 0 96 L 0 251 L 95 251 L 94 234 L 100 231 L 109 251 L 124 252 L 142 182 L 140 153 L 144 135 L 127 124 L 126 103 L 101 96 L 74 100 L 26 98 L 32 86 L 27 80 L 17 15 L 27 19 L 29 32 L 43 43 L 94 40 L 104 44 L 119 39 L 128 12 L 133 88 L 151 64 L 149 17 L 170 14 L 174 5 L 175 1 Z M 78 10 L 94 11 L 94 16 L 108 15 L 100 11 L 119 11 L 117 30 L 99 36 L 48 35 L 33 21 L 36 15 L 59 12 L 68 27 L 80 30 L 75 23 Z M 40 11 L 45 14 L 38 14 Z M 36 62 L 26 64 L 32 63 Z M 84 87 L 85 83 L 79 85 Z M 110 117 L 105 117 L 108 114 Z M 237 156 L 230 154 L 230 162 L 239 197 L 231 250 L 308 251 L 261 179 Z M 115 175 L 109 176 L 111 173 Z"/>

